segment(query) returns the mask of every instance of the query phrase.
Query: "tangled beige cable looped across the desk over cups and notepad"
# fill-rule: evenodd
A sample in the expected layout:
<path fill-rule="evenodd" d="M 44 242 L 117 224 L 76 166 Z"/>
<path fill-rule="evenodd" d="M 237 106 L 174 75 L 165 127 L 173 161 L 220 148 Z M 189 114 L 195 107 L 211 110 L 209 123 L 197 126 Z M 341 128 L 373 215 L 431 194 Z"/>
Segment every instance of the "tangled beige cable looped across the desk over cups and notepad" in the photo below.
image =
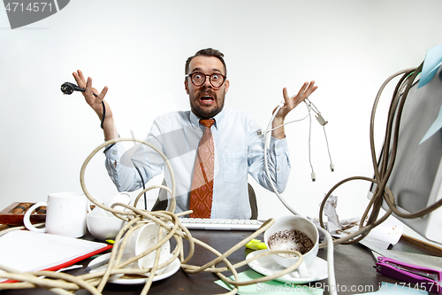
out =
<path fill-rule="evenodd" d="M 103 147 L 109 145 L 109 144 L 115 144 L 122 141 L 131 141 L 131 142 L 138 142 L 141 144 L 146 144 L 150 148 L 154 149 L 156 152 L 158 152 L 164 159 L 167 167 L 170 170 L 171 173 L 171 189 L 163 186 L 163 185 L 154 185 L 150 186 L 149 188 L 146 188 L 145 190 L 142 190 L 138 197 L 135 200 L 134 206 L 128 206 L 126 204 L 122 203 L 116 203 L 112 205 L 112 207 L 104 206 L 103 204 L 96 202 L 95 198 L 93 198 L 90 193 L 88 192 L 88 189 L 86 188 L 86 184 L 84 181 L 84 174 L 86 167 L 88 166 L 88 162 L 90 159 L 92 159 L 97 151 L 100 151 L 103 149 Z M 57 273 L 53 271 L 35 271 L 35 272 L 28 272 L 28 273 L 21 273 L 19 271 L 16 271 L 11 268 L 6 268 L 2 265 L 0 265 L 0 270 L 3 270 L 4 272 L 0 272 L 0 278 L 6 278 L 11 280 L 16 280 L 21 283 L 0 283 L 0 290 L 7 290 L 7 289 L 27 289 L 27 288 L 34 288 L 34 287 L 42 287 L 46 288 L 50 291 L 53 291 L 57 294 L 72 294 L 73 291 L 77 291 L 79 289 L 86 289 L 92 294 L 101 294 L 103 291 L 103 288 L 105 284 L 108 282 L 110 276 L 112 275 L 118 275 L 118 274 L 125 274 L 125 275 L 141 275 L 146 276 L 147 274 L 151 275 L 149 276 L 147 282 L 145 283 L 141 294 L 147 294 L 149 292 L 149 288 L 153 282 L 153 278 L 156 274 L 156 269 L 164 268 L 167 265 L 169 265 L 173 260 L 176 258 L 179 258 L 181 263 L 181 268 L 184 269 L 189 274 L 195 274 L 202 271 L 215 273 L 218 277 L 220 277 L 222 280 L 225 281 L 225 283 L 228 283 L 233 287 L 232 291 L 227 292 L 226 294 L 235 294 L 238 291 L 238 287 L 241 285 L 248 285 L 248 284 L 255 284 L 255 283 L 263 283 L 266 281 L 273 280 L 275 278 L 278 278 L 279 276 L 284 276 L 290 272 L 293 272 L 296 268 L 298 268 L 302 263 L 302 255 L 300 252 L 295 251 L 268 251 L 260 253 L 259 255 L 255 255 L 255 257 L 250 258 L 248 260 L 243 260 L 239 263 L 236 263 L 232 265 L 232 263 L 227 259 L 233 252 L 236 252 L 241 247 L 246 245 L 251 239 L 258 237 L 261 235 L 266 229 L 269 229 L 271 225 L 274 222 L 274 219 L 270 219 L 268 221 L 265 221 L 263 223 L 263 226 L 260 229 L 257 229 L 253 234 L 251 234 L 249 237 L 244 238 L 241 240 L 237 245 L 234 245 L 230 250 L 228 250 L 225 253 L 217 252 L 216 249 L 212 248 L 210 245 L 207 245 L 203 243 L 202 241 L 192 237 L 189 230 L 183 226 L 179 221 L 179 216 L 190 213 L 189 211 L 184 213 L 176 214 L 175 206 L 176 206 L 176 200 L 175 198 L 171 198 L 171 205 L 166 211 L 156 211 L 156 212 L 149 212 L 147 210 L 141 210 L 136 208 L 136 202 L 141 198 L 143 193 L 148 190 L 160 188 L 167 190 L 171 193 L 171 196 L 175 196 L 175 176 L 173 175 L 173 171 L 171 168 L 171 164 L 169 160 L 165 157 L 164 153 L 162 151 L 159 151 L 156 149 L 155 146 L 149 144 L 146 141 L 133 139 L 133 138 L 117 138 L 110 140 L 108 142 L 105 142 L 101 145 L 99 145 L 97 148 L 95 148 L 94 151 L 92 151 L 88 158 L 83 163 L 83 166 L 80 170 L 80 184 L 81 188 L 84 191 L 85 195 L 89 198 L 89 200 L 95 204 L 95 206 L 99 206 L 103 208 L 104 210 L 107 210 L 111 213 L 113 213 L 115 216 L 117 216 L 120 219 L 123 219 L 127 221 L 126 225 L 123 229 L 121 229 L 118 233 L 118 236 L 115 238 L 115 245 L 112 248 L 112 252 L 110 253 L 110 262 L 108 264 L 108 267 L 105 271 L 97 271 L 94 273 L 81 275 L 81 276 L 71 276 L 64 273 Z M 123 210 L 116 210 L 114 209 L 115 206 L 123 206 L 126 208 L 125 211 Z M 131 257 L 127 260 L 122 260 L 122 255 L 124 248 L 126 246 L 126 241 L 128 237 L 131 236 L 131 233 L 133 230 L 138 229 L 142 225 L 149 223 L 149 222 L 155 222 L 159 225 L 159 237 L 158 242 L 156 245 L 150 247 L 147 251 L 142 252 L 141 254 Z M 162 237 L 161 233 L 163 232 L 163 229 L 167 232 L 167 235 L 165 237 Z M 160 258 L 160 252 L 161 252 L 161 245 L 166 243 L 168 240 L 173 237 L 176 241 L 176 246 L 171 252 L 171 258 L 164 262 L 163 264 L 159 264 L 159 258 Z M 189 243 L 189 253 L 187 254 L 187 257 L 185 257 L 184 254 L 184 248 L 183 248 L 183 238 L 186 239 Z M 187 262 L 192 258 L 194 255 L 194 245 L 201 245 L 203 248 L 209 250 L 210 252 L 213 252 L 217 255 L 217 258 L 215 260 L 211 260 L 204 264 L 203 266 L 194 266 L 189 265 Z M 150 252 L 156 251 L 156 259 L 154 262 L 154 265 L 152 268 L 125 268 L 129 264 L 133 263 L 136 260 L 141 259 L 141 257 L 144 257 L 148 255 Z M 240 282 L 238 273 L 236 271 L 236 268 L 240 268 L 248 263 L 250 263 L 253 260 L 257 260 L 263 256 L 271 255 L 271 254 L 278 254 L 278 253 L 291 253 L 296 256 L 298 256 L 300 259 L 294 263 L 290 268 L 286 268 L 277 274 L 271 275 L 271 276 L 263 276 L 259 279 L 254 279 L 246 282 Z M 331 258 L 332 259 L 332 258 Z M 223 261 L 226 265 L 225 268 L 217 268 L 217 263 Z M 234 277 L 234 280 L 231 280 L 224 276 L 222 272 L 225 271 L 231 271 L 232 275 Z"/>

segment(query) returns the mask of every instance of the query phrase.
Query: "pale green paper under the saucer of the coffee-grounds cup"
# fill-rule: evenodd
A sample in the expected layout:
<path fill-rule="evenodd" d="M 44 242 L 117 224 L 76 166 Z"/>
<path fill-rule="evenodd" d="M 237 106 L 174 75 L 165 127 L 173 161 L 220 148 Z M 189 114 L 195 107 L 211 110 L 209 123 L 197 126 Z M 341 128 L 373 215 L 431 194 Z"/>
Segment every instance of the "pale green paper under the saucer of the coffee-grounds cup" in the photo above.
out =
<path fill-rule="evenodd" d="M 240 278 L 240 282 L 245 282 L 249 280 L 253 280 L 256 278 L 263 277 L 258 274 L 254 270 L 246 270 L 242 273 L 238 274 Z M 233 276 L 229 276 L 229 279 L 233 280 Z M 222 280 L 218 280 L 215 283 L 219 284 L 221 287 L 232 290 L 232 288 L 224 283 Z M 275 293 L 284 293 L 287 292 L 296 292 L 297 294 L 314 294 L 314 295 L 322 295 L 324 293 L 323 289 L 315 288 L 314 285 L 309 287 L 309 285 L 301 285 L 301 284 L 293 284 L 293 283 L 281 283 L 277 281 L 267 281 L 264 283 L 255 283 L 250 284 L 248 286 L 240 286 L 240 290 L 237 294 L 246 295 L 246 294 L 263 294 L 263 295 L 271 295 Z"/>

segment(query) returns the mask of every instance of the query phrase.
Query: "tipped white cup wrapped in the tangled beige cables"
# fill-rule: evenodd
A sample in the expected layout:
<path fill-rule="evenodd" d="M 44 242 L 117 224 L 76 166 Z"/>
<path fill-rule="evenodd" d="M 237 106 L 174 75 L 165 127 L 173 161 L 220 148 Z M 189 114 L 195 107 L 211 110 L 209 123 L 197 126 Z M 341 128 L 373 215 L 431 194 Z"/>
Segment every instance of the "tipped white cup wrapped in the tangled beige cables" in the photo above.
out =
<path fill-rule="evenodd" d="M 125 248 L 125 253 L 129 253 L 132 255 L 138 255 L 142 252 L 145 252 L 150 247 L 155 246 L 158 243 L 158 231 L 159 225 L 156 223 L 148 223 L 142 226 L 140 229 L 136 229 L 133 231 L 131 237 L 128 238 Z M 167 235 L 167 232 L 163 229 L 164 238 Z M 163 264 L 165 261 L 171 258 L 171 245 L 170 242 L 167 241 L 160 247 L 160 260 L 158 261 L 158 265 Z M 139 268 L 152 268 L 155 262 L 156 251 L 150 252 L 148 255 L 142 257 L 138 260 Z M 165 268 L 161 268 L 156 270 L 156 275 L 162 274 Z"/>

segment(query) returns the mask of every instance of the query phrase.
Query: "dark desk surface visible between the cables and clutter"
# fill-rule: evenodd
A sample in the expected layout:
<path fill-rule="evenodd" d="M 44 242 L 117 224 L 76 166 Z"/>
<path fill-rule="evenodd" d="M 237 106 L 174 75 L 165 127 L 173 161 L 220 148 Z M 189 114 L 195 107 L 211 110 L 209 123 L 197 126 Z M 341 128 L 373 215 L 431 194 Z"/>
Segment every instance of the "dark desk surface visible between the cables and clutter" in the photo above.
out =
<path fill-rule="evenodd" d="M 193 230 L 194 237 L 202 242 L 213 246 L 218 252 L 226 252 L 232 245 L 237 244 L 243 238 L 248 237 L 248 231 L 210 231 L 210 230 Z M 262 238 L 262 237 L 261 237 Z M 187 244 L 185 245 L 185 253 L 187 253 Z M 395 245 L 395 250 L 404 245 Z M 407 246 L 407 245 L 405 245 Z M 189 264 L 201 266 L 216 256 L 211 252 L 195 245 L 195 253 Z M 400 250 L 400 249 L 399 249 Z M 248 249 L 245 247 L 239 251 L 232 253 L 228 258 L 232 263 L 240 262 L 245 259 Z M 321 249 L 318 256 L 326 260 L 326 249 Z M 339 294 L 357 294 L 369 291 L 377 291 L 382 282 L 399 283 L 386 276 L 377 275 L 373 268 L 375 261 L 369 251 L 362 248 L 361 245 L 336 245 L 334 251 L 336 283 L 339 287 Z M 88 260 L 85 260 L 85 265 Z M 238 269 L 238 272 L 247 270 L 248 266 Z M 80 274 L 80 270 L 72 270 L 71 274 Z M 225 273 L 230 276 L 230 273 Z M 149 294 L 217 294 L 225 293 L 226 290 L 216 283 L 218 277 L 210 273 L 200 273 L 187 275 L 182 269 L 162 281 L 154 282 L 150 288 Z M 320 286 L 324 288 L 324 294 L 328 294 L 327 280 L 313 282 L 312 287 Z M 108 283 L 103 294 L 140 294 L 143 284 L 141 285 L 118 285 Z M 258 293 L 258 292 L 257 292 Z M 16 290 L 16 291 L 0 291 L 1 295 L 24 295 L 24 294 L 53 294 L 43 289 L 33 290 Z M 80 290 L 75 294 L 86 295 L 88 291 Z"/>

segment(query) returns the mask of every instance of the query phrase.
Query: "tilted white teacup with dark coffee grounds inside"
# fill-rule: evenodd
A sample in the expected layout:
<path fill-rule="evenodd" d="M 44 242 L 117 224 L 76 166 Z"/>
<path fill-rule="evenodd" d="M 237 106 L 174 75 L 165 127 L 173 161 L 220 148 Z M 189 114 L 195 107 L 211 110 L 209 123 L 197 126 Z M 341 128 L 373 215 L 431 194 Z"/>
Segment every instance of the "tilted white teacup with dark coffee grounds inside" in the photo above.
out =
<path fill-rule="evenodd" d="M 267 249 L 270 250 L 296 250 L 298 245 L 295 245 L 293 243 L 293 240 L 291 238 L 286 238 L 285 236 L 293 237 L 294 230 L 299 230 L 301 233 L 306 235 L 310 238 L 313 246 L 308 251 L 302 254 L 303 261 L 301 263 L 301 266 L 298 268 L 298 272 L 301 277 L 309 277 L 309 272 L 307 270 L 307 267 L 313 262 L 313 260 L 316 259 L 317 251 L 319 248 L 319 233 L 316 229 L 315 224 L 313 224 L 308 219 L 291 215 L 291 216 L 284 216 L 277 218 L 275 223 L 271 226 L 270 229 L 267 229 L 264 233 L 264 242 L 267 246 Z M 281 232 L 285 232 L 288 230 L 288 235 L 281 235 Z M 279 233 L 279 234 L 278 234 Z M 287 234 L 287 232 L 286 232 Z M 274 236 L 275 235 L 275 236 Z M 271 246 L 269 245 L 269 240 L 273 236 L 272 239 L 275 239 L 277 237 L 276 241 L 277 243 L 271 243 Z M 282 237 L 281 237 L 282 236 Z M 273 241 L 275 242 L 275 241 Z M 279 265 L 289 268 L 291 267 L 296 261 L 298 261 L 298 257 L 283 257 L 286 256 L 284 254 L 281 255 L 271 255 L 273 260 L 275 260 Z"/>

